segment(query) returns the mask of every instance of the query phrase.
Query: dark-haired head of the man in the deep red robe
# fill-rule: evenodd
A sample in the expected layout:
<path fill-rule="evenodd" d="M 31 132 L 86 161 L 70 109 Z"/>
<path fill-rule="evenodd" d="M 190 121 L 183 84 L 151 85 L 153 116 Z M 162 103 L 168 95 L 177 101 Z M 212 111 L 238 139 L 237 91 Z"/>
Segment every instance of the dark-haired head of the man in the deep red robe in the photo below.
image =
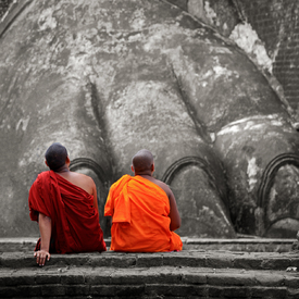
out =
<path fill-rule="evenodd" d="M 50 170 L 55 172 L 64 166 L 67 158 L 67 150 L 61 144 L 54 142 L 47 149 L 45 158 Z"/>

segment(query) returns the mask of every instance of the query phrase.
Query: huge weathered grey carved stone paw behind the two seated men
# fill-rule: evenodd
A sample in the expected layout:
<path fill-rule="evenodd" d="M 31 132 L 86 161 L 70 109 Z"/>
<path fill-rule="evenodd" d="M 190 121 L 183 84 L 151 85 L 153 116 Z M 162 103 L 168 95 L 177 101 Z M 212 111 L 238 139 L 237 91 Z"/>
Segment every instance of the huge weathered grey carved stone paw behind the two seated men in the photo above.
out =
<path fill-rule="evenodd" d="M 166 1 L 22 3 L 0 38 L 0 236 L 37 234 L 27 192 L 53 141 L 94 177 L 107 235 L 109 186 L 141 148 L 182 236 L 297 232 L 299 136 L 235 45 Z"/>

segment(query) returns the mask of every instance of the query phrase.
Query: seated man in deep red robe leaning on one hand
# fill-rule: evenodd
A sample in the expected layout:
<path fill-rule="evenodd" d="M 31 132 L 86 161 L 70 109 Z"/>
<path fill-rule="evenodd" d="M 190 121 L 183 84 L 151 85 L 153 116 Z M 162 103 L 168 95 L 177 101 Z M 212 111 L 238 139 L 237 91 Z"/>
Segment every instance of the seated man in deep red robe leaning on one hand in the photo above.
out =
<path fill-rule="evenodd" d="M 37 263 L 45 265 L 50 252 L 105 251 L 92 178 L 70 171 L 70 158 L 61 144 L 51 145 L 45 158 L 50 171 L 40 173 L 29 190 L 30 219 L 40 231 Z"/>

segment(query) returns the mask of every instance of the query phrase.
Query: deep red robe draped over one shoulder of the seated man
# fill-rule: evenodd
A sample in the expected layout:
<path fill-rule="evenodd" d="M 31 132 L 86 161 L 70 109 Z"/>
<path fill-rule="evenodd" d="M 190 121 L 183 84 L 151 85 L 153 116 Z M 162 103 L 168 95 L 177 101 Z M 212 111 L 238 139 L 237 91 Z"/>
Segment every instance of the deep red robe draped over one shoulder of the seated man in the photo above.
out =
<path fill-rule="evenodd" d="M 29 190 L 29 215 L 38 222 L 42 213 L 51 219 L 50 252 L 105 251 L 99 212 L 94 196 L 53 171 L 40 173 Z M 39 250 L 40 239 L 36 249 Z"/>

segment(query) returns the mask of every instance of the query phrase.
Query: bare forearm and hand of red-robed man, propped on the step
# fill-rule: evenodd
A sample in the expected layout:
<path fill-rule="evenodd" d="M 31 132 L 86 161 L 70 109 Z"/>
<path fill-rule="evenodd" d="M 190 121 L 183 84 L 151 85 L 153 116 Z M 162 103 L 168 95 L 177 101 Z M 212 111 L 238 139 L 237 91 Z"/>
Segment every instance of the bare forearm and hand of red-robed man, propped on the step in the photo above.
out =
<path fill-rule="evenodd" d="M 49 253 L 50 249 L 50 239 L 51 239 L 51 219 L 46 216 L 42 213 L 39 213 L 38 225 L 40 232 L 40 250 L 35 252 L 36 263 L 39 265 L 45 265 L 46 259 L 50 260 L 51 254 Z"/>

